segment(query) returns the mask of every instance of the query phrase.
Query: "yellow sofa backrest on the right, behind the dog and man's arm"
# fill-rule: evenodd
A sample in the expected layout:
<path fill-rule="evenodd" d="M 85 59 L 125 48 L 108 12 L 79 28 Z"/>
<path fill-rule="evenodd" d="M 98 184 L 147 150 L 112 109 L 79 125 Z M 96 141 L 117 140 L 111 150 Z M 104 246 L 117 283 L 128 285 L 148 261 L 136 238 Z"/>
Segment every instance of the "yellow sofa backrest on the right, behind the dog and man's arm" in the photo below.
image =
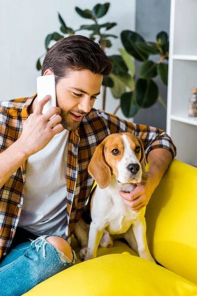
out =
<path fill-rule="evenodd" d="M 145 217 L 153 257 L 197 284 L 197 168 L 173 160 Z"/>

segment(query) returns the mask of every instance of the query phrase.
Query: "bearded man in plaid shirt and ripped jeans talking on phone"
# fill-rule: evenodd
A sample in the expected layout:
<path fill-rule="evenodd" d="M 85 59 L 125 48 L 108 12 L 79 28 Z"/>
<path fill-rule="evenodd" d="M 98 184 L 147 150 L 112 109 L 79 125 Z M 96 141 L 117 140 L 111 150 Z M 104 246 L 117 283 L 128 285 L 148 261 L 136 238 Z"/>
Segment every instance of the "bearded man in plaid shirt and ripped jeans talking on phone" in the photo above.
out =
<path fill-rule="evenodd" d="M 131 193 L 120 192 L 133 211 L 147 205 L 176 154 L 164 131 L 93 108 L 103 76 L 110 71 L 99 44 L 69 36 L 49 49 L 42 65 L 42 75 L 55 75 L 57 107 L 42 114 L 50 96 L 39 103 L 36 95 L 0 102 L 4 295 L 22 295 L 74 262 L 68 243 L 94 184 L 88 164 L 106 136 L 131 132 L 144 145 L 150 165 L 147 184 L 138 184 Z"/>

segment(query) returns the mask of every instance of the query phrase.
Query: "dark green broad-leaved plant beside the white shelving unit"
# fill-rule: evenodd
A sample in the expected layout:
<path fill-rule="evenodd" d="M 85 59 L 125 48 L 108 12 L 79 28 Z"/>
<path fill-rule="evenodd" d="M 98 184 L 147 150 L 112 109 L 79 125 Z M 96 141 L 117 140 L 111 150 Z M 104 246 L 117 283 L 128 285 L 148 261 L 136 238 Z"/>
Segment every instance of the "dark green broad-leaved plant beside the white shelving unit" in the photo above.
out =
<path fill-rule="evenodd" d="M 156 39 L 157 42 L 147 42 L 135 32 L 127 30 L 121 33 L 125 50 L 120 50 L 120 53 L 132 77 L 135 77 L 135 70 L 131 63 L 131 56 L 143 63 L 139 69 L 139 78 L 134 81 L 135 85 L 130 87 L 129 92 L 122 93 L 120 97 L 118 108 L 121 107 L 127 117 L 134 116 L 140 108 L 151 107 L 157 100 L 166 109 L 159 95 L 158 85 L 152 78 L 159 75 L 163 83 L 167 85 L 168 64 L 164 63 L 164 60 L 168 60 L 168 35 L 160 32 Z M 160 59 L 157 62 L 148 60 L 149 55 L 159 55 Z"/>

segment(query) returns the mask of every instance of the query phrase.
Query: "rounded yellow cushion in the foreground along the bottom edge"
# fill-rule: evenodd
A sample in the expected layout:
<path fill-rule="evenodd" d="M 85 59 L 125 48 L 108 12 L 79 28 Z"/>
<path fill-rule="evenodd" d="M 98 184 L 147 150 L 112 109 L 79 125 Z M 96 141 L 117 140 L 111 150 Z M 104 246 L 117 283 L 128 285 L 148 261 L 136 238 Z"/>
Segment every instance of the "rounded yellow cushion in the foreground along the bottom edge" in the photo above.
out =
<path fill-rule="evenodd" d="M 74 265 L 40 283 L 27 296 L 194 296 L 197 286 L 129 253 Z"/>

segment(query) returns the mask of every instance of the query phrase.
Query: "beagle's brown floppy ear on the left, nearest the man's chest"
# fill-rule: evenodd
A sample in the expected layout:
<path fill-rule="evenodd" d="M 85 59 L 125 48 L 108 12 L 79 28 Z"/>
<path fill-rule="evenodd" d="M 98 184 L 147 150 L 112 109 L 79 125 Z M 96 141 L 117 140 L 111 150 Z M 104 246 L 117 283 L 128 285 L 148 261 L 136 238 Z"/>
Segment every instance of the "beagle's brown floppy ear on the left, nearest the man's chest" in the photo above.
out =
<path fill-rule="evenodd" d="M 95 150 L 88 166 L 88 172 L 99 184 L 100 188 L 106 188 L 111 182 L 111 171 L 104 157 L 104 144 L 101 143 Z"/>

